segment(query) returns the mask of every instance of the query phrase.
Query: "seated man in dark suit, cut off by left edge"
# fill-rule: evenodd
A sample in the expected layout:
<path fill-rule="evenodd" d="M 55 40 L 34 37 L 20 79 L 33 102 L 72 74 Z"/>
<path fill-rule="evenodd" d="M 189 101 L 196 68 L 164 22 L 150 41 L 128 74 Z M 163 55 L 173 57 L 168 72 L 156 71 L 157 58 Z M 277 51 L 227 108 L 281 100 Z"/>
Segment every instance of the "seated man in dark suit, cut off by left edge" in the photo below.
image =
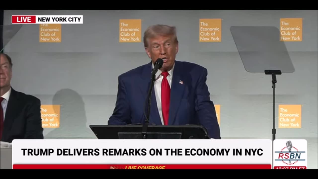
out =
<path fill-rule="evenodd" d="M 41 102 L 38 98 L 14 90 L 11 85 L 12 61 L 0 54 L 0 139 L 43 139 Z"/>

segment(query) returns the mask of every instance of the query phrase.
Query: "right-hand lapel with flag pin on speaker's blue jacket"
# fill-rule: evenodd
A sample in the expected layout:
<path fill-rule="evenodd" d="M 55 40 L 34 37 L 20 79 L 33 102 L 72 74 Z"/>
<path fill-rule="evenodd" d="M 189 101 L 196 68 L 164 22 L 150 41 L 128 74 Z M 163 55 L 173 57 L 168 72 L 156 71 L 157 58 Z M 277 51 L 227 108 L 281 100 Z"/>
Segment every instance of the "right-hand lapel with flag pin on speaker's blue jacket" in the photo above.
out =
<path fill-rule="evenodd" d="M 175 61 L 170 92 L 169 125 L 173 125 L 176 120 L 176 113 L 179 109 L 181 98 L 183 96 L 185 84 L 183 84 L 182 69 Z"/>

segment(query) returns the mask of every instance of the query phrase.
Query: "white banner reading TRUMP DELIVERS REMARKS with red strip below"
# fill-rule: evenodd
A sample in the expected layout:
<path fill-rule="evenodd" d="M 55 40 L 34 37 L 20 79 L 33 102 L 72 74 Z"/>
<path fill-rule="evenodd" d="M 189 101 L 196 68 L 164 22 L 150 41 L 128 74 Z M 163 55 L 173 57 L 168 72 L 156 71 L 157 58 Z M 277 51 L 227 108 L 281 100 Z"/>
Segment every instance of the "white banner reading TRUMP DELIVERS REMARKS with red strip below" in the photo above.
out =
<path fill-rule="evenodd" d="M 13 140 L 13 169 L 271 169 L 271 140 Z"/>

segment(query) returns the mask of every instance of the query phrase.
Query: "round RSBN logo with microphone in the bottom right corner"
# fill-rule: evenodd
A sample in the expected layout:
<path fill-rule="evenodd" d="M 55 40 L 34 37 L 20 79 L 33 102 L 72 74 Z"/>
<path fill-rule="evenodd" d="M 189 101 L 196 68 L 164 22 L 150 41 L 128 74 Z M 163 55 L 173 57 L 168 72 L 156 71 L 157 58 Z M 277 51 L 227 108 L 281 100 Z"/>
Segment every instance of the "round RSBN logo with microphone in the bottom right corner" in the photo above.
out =
<path fill-rule="evenodd" d="M 303 159 L 305 157 L 301 157 L 301 154 L 304 154 L 304 151 L 298 151 L 296 147 L 293 146 L 292 141 L 288 140 L 286 142 L 286 147 L 282 148 L 280 151 L 277 151 L 275 153 L 278 154 L 278 159 L 275 159 L 275 161 L 282 161 L 283 163 L 287 165 L 293 165 L 297 163 L 298 161 L 305 161 L 306 159 Z"/>

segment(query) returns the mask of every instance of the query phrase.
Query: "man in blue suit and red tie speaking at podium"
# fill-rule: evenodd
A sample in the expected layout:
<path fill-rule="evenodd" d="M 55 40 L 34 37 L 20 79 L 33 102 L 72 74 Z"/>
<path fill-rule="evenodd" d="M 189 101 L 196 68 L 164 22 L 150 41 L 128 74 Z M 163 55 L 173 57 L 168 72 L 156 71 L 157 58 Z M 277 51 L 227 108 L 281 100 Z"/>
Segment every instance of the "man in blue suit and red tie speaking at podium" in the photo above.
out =
<path fill-rule="evenodd" d="M 206 85 L 207 69 L 176 61 L 176 28 L 153 25 L 144 32 L 144 47 L 151 59 L 118 77 L 118 93 L 108 125 L 143 124 L 147 116 L 147 94 L 151 72 L 157 59 L 162 67 L 155 74 L 149 124 L 202 125 L 213 139 L 220 139 L 220 128 Z"/>

